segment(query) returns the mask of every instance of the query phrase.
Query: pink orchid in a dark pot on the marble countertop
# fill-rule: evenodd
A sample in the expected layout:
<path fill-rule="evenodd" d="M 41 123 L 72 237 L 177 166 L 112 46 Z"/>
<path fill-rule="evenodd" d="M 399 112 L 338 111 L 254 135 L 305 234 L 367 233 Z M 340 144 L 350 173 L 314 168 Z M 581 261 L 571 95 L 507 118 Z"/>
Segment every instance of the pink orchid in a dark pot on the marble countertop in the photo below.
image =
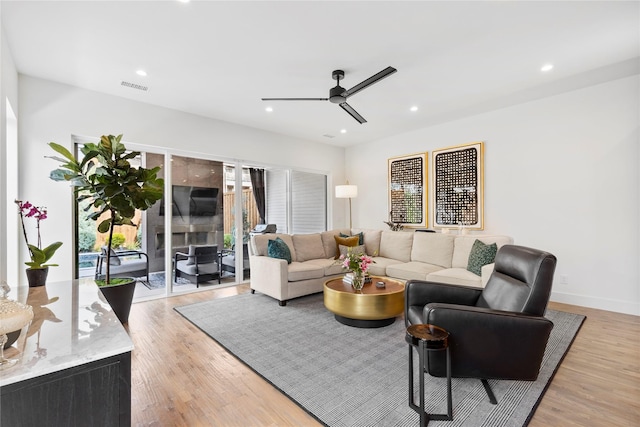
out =
<path fill-rule="evenodd" d="M 45 264 L 56 253 L 58 248 L 62 246 L 62 242 L 55 242 L 42 249 L 42 239 L 40 238 L 40 221 L 47 219 L 47 208 L 44 206 L 34 206 L 29 202 L 23 202 L 22 200 L 16 200 L 18 205 L 18 213 L 20 214 L 20 223 L 22 224 L 22 234 L 24 235 L 24 241 L 29 248 L 29 254 L 31 256 L 30 262 L 25 262 L 29 266 L 27 268 L 27 279 L 29 280 L 29 286 L 43 286 L 47 281 L 47 274 L 49 273 L 49 267 L 55 267 L 58 264 Z M 30 245 L 29 238 L 27 237 L 27 229 L 24 227 L 24 217 L 36 219 L 36 229 L 38 230 L 38 244 Z"/>

